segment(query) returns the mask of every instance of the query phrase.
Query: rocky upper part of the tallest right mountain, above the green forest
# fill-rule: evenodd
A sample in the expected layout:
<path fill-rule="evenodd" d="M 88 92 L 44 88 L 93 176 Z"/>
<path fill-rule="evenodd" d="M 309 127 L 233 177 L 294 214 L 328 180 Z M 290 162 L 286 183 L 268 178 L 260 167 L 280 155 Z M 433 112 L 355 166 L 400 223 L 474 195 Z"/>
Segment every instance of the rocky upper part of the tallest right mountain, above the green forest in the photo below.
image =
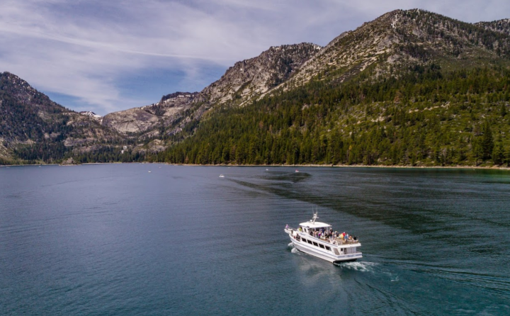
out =
<path fill-rule="evenodd" d="M 497 25 L 503 29 L 505 23 Z M 496 55 L 510 55 L 504 33 L 420 9 L 395 10 L 339 35 L 305 62 L 283 89 L 312 78 L 345 81 L 372 65 L 377 74 L 385 74 L 395 66 Z"/>

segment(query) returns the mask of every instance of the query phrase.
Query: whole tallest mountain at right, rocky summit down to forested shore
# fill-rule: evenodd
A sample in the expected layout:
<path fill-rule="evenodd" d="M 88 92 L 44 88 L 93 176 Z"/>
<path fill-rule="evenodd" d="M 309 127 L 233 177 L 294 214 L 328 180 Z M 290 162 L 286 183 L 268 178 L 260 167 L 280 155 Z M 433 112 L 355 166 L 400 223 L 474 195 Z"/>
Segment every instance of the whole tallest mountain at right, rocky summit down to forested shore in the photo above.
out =
<path fill-rule="evenodd" d="M 507 164 L 510 37 L 501 24 L 386 13 L 339 35 L 256 101 L 213 107 L 156 160 Z"/>

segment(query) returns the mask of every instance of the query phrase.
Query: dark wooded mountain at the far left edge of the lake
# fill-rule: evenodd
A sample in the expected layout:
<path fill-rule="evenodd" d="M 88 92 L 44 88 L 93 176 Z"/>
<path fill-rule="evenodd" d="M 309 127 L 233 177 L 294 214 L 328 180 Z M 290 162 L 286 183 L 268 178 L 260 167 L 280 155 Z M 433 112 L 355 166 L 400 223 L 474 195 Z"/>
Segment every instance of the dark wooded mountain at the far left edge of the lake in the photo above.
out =
<path fill-rule="evenodd" d="M 0 74 L 0 164 L 60 162 L 73 151 L 121 140 L 98 120 L 60 106 L 16 75 Z"/>

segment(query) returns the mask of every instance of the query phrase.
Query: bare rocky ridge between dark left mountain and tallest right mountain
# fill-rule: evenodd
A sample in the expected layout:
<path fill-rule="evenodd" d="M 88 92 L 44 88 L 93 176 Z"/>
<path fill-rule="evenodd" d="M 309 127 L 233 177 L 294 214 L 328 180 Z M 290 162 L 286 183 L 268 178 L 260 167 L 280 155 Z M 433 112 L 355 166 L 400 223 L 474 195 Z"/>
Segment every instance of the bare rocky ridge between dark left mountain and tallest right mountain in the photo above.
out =
<path fill-rule="evenodd" d="M 110 113 L 103 125 L 125 134 L 142 134 L 144 138 L 174 135 L 192 117 L 193 121 L 200 119 L 212 105 L 239 105 L 278 86 L 320 48 L 310 43 L 270 47 L 257 57 L 236 62 L 200 93 L 176 92 L 149 106 Z"/>

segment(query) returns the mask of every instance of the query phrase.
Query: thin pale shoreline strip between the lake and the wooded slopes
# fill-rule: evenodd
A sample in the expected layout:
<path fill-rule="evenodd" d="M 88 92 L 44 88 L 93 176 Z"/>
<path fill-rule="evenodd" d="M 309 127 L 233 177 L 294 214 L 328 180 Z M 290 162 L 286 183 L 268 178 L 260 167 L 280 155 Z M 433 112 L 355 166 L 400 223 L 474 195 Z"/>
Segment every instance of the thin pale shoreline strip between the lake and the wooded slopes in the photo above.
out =
<path fill-rule="evenodd" d="M 363 164 L 171 164 L 168 162 L 87 162 L 85 164 L 2 164 L 0 168 L 8 167 L 42 167 L 42 166 L 58 166 L 72 167 L 87 164 L 167 164 L 170 166 L 184 167 L 327 167 L 327 168 L 387 168 L 387 169 L 480 169 L 480 170 L 503 170 L 510 171 L 510 167 L 497 166 L 382 166 L 382 165 L 363 165 Z"/>

